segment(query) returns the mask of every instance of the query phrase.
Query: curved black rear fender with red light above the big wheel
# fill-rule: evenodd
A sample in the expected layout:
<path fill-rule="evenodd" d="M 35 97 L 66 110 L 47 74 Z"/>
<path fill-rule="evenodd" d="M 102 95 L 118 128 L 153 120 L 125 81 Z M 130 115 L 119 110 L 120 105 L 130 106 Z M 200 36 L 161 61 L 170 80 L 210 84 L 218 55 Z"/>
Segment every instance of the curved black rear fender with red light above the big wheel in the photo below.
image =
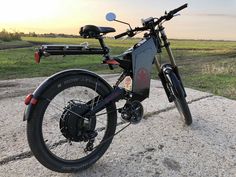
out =
<path fill-rule="evenodd" d="M 58 79 L 61 79 L 63 77 L 68 77 L 68 76 L 75 76 L 78 75 L 78 77 L 80 75 L 89 75 L 91 77 L 94 77 L 96 79 L 99 79 L 101 82 L 104 83 L 104 85 L 106 85 L 106 87 L 110 90 L 110 92 L 113 90 L 113 88 L 99 75 L 97 75 L 96 73 L 93 73 L 91 71 L 88 70 L 83 70 L 83 69 L 69 69 L 69 70 L 64 70 L 61 72 L 58 72 L 52 76 L 50 76 L 49 78 L 47 78 L 46 80 L 44 80 L 39 87 L 34 91 L 33 93 L 33 97 L 31 100 L 34 100 L 33 102 L 30 101 L 29 105 L 25 108 L 24 111 L 24 116 L 23 116 L 23 120 L 27 120 L 30 121 L 33 111 L 38 103 L 38 101 L 40 99 L 42 99 L 41 95 L 43 95 L 43 93 L 51 86 L 54 84 L 54 82 L 56 82 Z"/>

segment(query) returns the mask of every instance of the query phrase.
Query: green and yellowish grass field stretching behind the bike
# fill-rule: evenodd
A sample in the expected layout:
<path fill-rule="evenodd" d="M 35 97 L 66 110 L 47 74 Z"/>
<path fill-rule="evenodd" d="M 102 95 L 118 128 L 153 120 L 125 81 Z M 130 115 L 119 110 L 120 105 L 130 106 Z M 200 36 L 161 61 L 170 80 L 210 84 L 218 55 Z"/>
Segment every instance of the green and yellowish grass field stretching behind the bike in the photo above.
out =
<path fill-rule="evenodd" d="M 98 42 L 94 39 L 23 37 L 22 40 L 23 43 L 29 41 L 61 44 L 80 44 L 88 41 L 90 45 L 98 46 Z M 114 55 L 122 53 L 137 41 L 138 39 L 105 40 Z M 186 87 L 236 99 L 236 42 L 204 40 L 170 40 L 170 42 Z M 1 45 L 4 43 L 0 43 Z M 67 68 L 84 68 L 98 73 L 121 71 L 118 68 L 110 71 L 106 65 L 100 65 L 101 56 L 53 56 L 43 58 L 40 64 L 35 64 L 33 57 L 35 48 L 37 46 L 0 50 L 0 79 L 49 76 Z M 166 62 L 164 50 L 162 58 L 163 62 Z M 155 70 L 153 78 L 157 78 Z"/>

